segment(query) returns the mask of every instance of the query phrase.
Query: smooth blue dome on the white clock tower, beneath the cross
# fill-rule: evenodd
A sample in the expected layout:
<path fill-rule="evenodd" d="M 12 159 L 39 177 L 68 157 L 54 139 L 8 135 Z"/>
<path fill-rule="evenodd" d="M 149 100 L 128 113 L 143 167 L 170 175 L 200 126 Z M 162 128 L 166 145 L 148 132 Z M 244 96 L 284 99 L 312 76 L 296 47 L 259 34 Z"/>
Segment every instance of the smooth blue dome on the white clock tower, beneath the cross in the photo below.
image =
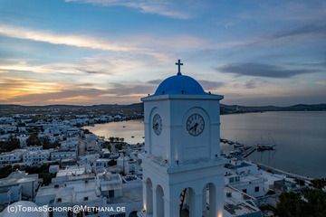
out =
<path fill-rule="evenodd" d="M 165 94 L 188 94 L 203 95 L 206 94 L 202 86 L 193 78 L 178 73 L 163 80 L 155 91 L 154 96 Z"/>

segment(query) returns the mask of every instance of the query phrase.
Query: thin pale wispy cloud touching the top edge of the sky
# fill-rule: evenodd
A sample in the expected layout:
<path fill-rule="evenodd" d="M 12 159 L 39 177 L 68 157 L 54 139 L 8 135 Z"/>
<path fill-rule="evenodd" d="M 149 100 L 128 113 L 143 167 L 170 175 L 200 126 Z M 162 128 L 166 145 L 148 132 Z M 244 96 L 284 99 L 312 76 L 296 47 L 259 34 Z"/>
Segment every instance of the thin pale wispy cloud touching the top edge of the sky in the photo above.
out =
<path fill-rule="evenodd" d="M 129 8 L 134 8 L 139 10 L 144 14 L 159 14 L 163 16 L 167 16 L 170 18 L 176 19 L 189 19 L 190 14 L 185 12 L 185 6 L 175 5 L 173 1 L 150 1 L 150 0 L 141 0 L 141 1 L 133 1 L 133 0 L 66 0 L 66 2 L 80 2 L 92 5 L 101 5 L 101 6 L 124 6 Z M 177 4 L 180 4 L 177 2 Z M 175 10 L 174 8 L 182 8 L 183 10 Z"/>

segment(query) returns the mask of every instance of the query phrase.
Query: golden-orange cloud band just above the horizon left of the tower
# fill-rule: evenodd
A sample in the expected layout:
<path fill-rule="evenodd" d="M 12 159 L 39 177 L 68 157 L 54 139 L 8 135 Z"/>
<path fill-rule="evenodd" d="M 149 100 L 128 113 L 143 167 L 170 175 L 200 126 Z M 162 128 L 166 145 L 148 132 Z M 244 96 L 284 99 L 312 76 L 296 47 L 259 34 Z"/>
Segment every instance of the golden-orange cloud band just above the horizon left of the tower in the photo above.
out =
<path fill-rule="evenodd" d="M 18 84 L 18 83 L 17 83 Z M 13 90 L 18 85 L 13 85 L 10 88 Z M 35 84 L 35 83 L 34 83 Z M 0 99 L 0 103 L 14 103 L 25 105 L 44 105 L 44 104 L 56 104 L 56 103 L 68 103 L 68 104 L 105 104 L 105 103 L 130 103 L 139 101 L 141 96 L 146 96 L 147 93 L 151 93 L 151 88 L 146 85 L 118 85 L 112 84 L 108 89 L 97 89 L 94 86 L 86 84 L 65 84 L 65 87 L 59 90 L 50 91 L 29 91 L 19 92 L 17 95 L 9 96 L 0 90 L 0 96 L 4 95 L 4 98 Z M 52 86 L 55 88 L 55 84 Z M 8 88 L 8 87 L 7 87 Z M 4 93 L 4 94 L 3 94 Z"/>

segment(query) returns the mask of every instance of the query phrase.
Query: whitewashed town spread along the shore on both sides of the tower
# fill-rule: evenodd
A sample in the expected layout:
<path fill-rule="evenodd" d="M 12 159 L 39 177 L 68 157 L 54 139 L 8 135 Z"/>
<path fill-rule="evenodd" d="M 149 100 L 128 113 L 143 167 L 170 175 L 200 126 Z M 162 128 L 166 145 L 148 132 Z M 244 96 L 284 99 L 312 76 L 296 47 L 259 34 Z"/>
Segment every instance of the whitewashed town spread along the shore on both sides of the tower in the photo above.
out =
<path fill-rule="evenodd" d="M 30 201 L 35 207 L 125 207 L 125 212 L 109 216 L 142 216 L 140 156 L 144 144 L 128 144 L 114 135 L 98 137 L 83 128 L 142 116 L 16 114 L 0 118 L 1 210 Z M 237 150 L 238 144 L 233 146 Z M 223 156 L 224 216 L 273 216 L 282 193 L 316 185 L 312 178 L 288 175 L 234 153 Z M 62 216 L 62 212 L 52 216 Z M 83 212 L 78 216 L 108 215 Z"/>

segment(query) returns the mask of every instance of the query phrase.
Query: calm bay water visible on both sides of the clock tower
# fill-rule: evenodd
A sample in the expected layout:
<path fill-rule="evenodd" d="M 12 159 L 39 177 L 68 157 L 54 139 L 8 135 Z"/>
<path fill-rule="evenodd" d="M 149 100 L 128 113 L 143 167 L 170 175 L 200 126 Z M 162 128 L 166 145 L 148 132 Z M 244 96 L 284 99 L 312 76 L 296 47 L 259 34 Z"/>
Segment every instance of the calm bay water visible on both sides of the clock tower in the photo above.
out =
<path fill-rule="evenodd" d="M 130 144 L 143 142 L 144 127 L 139 120 L 87 128 L 99 136 L 124 137 Z M 326 112 L 225 115 L 221 116 L 221 137 L 246 145 L 275 143 L 276 151 L 255 152 L 249 158 L 295 174 L 326 176 Z M 222 147 L 225 152 L 232 150 L 229 145 Z"/>

